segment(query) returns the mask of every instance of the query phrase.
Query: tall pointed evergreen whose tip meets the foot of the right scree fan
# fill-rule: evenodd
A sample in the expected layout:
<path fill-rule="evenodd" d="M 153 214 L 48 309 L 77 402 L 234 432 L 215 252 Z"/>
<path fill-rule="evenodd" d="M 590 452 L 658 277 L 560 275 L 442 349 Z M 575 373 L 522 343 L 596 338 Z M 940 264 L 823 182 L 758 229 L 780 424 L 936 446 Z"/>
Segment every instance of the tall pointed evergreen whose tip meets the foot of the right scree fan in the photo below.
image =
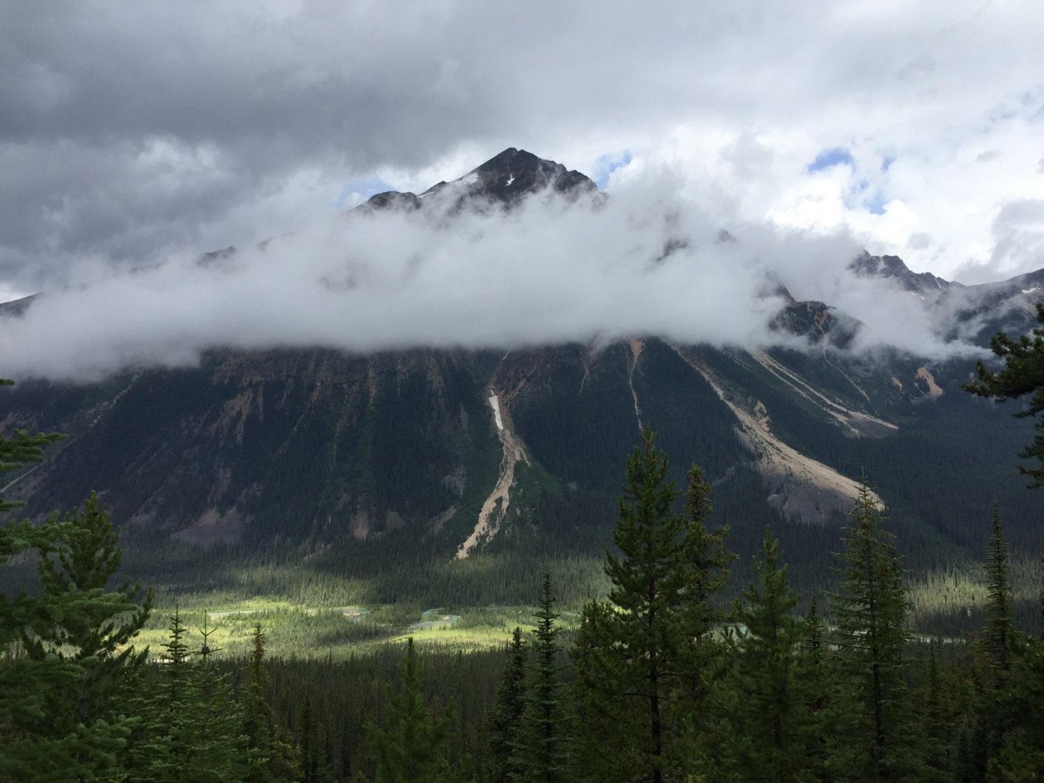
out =
<path fill-rule="evenodd" d="M 922 758 L 903 681 L 909 604 L 892 535 L 867 484 L 859 488 L 847 528 L 840 592 L 831 596 L 838 673 L 853 718 L 835 752 L 859 781 L 922 781 Z"/>

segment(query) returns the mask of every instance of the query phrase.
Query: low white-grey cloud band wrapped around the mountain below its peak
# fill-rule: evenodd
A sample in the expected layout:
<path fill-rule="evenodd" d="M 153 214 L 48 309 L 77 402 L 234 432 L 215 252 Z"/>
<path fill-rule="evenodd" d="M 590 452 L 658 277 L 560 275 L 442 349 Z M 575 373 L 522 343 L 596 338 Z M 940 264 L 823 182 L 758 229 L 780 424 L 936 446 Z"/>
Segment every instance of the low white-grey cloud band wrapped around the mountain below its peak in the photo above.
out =
<path fill-rule="evenodd" d="M 609 199 L 551 193 L 509 213 L 354 210 L 223 258 L 119 271 L 41 296 L 0 318 L 5 376 L 91 380 L 185 365 L 214 347 L 326 346 L 350 352 L 498 348 L 663 335 L 766 346 L 784 301 L 825 301 L 864 322 L 858 350 L 922 355 L 944 345 L 904 291 L 847 269 L 844 236 L 730 224 L 649 176 Z M 451 195 L 451 194 L 450 194 Z M 429 197 L 430 199 L 430 197 Z"/>

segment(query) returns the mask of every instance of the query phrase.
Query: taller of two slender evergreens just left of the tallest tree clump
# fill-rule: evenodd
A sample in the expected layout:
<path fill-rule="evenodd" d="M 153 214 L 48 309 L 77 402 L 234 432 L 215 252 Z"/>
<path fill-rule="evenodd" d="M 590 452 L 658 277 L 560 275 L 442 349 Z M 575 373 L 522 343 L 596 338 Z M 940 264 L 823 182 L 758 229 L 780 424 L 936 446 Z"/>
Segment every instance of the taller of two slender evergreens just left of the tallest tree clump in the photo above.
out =
<path fill-rule="evenodd" d="M 521 776 L 514 779 L 532 783 L 559 783 L 566 776 L 566 749 L 562 705 L 559 701 L 559 630 L 554 626 L 559 615 L 554 612 L 551 574 L 548 571 L 544 572 L 536 618 L 533 660 L 526 682 L 520 731 L 519 756 L 523 770 Z"/>

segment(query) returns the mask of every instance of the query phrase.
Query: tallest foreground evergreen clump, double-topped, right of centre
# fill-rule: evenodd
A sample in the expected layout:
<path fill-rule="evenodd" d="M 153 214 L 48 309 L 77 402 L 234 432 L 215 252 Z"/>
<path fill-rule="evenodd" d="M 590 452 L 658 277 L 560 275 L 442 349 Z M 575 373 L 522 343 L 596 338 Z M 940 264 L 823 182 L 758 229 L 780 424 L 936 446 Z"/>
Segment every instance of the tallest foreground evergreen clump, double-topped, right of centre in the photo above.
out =
<path fill-rule="evenodd" d="M 680 741 L 702 696 L 712 645 L 710 594 L 728 573 L 723 532 L 708 535 L 707 484 L 689 473 L 686 514 L 666 456 L 646 424 L 627 460 L 619 518 L 607 552 L 609 604 L 584 611 L 574 659 L 576 753 L 585 780 L 652 781 L 679 767 Z"/>

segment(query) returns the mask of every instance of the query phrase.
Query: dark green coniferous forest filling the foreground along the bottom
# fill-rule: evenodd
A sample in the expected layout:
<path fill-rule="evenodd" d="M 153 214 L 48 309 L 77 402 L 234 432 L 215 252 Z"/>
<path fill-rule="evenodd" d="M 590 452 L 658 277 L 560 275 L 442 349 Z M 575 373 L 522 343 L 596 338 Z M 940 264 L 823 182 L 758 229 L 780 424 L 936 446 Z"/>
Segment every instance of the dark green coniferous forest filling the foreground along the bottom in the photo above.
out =
<path fill-rule="evenodd" d="M 56 435 L 16 432 L 3 467 Z M 153 594 L 114 583 L 118 531 L 92 495 L 2 528 L 38 586 L 0 602 L 0 777 L 11 781 L 1028 781 L 1044 775 L 1044 639 L 1017 630 L 1000 509 L 983 520 L 973 634 L 910 631 L 895 536 L 863 485 L 835 591 L 800 596 L 770 526 L 753 578 L 711 488 L 646 426 L 626 460 L 604 598 L 562 624 L 545 571 L 531 632 L 465 652 L 385 644 L 274 658 L 264 624 L 222 656 L 175 609 L 136 644 Z M 1040 611 L 1044 616 L 1044 584 Z M 568 633 L 566 633 L 568 631 Z"/>

